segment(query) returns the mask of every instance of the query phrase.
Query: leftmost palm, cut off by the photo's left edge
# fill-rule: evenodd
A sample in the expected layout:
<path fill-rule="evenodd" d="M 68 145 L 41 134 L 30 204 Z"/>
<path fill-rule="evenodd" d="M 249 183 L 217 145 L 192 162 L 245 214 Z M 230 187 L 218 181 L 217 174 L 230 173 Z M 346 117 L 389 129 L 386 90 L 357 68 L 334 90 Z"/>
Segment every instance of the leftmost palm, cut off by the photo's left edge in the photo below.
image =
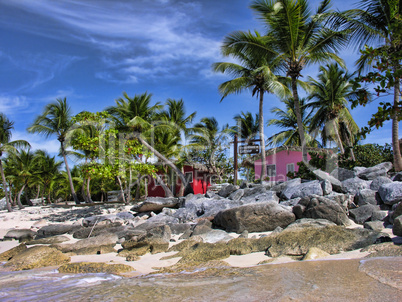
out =
<path fill-rule="evenodd" d="M 29 146 L 28 142 L 24 140 L 11 140 L 11 130 L 14 129 L 14 122 L 10 121 L 3 113 L 0 113 L 0 173 L 1 179 L 3 181 L 3 191 L 6 198 L 7 210 L 9 212 L 11 209 L 11 200 L 9 199 L 9 194 L 7 192 L 7 182 L 4 175 L 3 164 L 1 157 L 4 153 L 16 151 L 16 147 L 26 147 Z"/>

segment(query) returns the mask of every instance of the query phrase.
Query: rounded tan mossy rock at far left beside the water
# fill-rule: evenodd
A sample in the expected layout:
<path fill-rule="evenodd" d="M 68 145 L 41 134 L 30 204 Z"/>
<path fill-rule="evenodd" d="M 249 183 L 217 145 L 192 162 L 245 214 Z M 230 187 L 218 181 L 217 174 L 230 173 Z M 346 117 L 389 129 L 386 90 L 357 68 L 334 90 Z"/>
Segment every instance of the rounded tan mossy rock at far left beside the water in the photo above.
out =
<path fill-rule="evenodd" d="M 70 257 L 48 246 L 34 246 L 15 255 L 4 266 L 13 271 L 56 266 L 70 262 Z"/>

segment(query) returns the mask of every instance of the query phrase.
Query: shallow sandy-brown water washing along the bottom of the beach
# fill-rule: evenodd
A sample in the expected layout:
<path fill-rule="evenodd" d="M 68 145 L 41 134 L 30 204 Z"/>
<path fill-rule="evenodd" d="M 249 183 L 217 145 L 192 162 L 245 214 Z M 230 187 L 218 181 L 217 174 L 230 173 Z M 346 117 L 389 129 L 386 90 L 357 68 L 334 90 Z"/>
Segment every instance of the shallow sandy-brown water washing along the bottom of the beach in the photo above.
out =
<path fill-rule="evenodd" d="M 402 301 L 402 257 L 122 278 L 0 272 L 0 301 Z"/>

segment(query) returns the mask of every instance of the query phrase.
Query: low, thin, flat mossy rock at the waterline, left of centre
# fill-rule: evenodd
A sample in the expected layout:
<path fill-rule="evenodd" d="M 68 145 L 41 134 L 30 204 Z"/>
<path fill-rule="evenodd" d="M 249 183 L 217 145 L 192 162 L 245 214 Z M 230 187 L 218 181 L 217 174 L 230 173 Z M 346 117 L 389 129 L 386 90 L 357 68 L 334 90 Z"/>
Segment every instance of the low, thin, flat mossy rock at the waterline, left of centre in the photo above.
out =
<path fill-rule="evenodd" d="M 67 263 L 59 267 L 60 273 L 88 274 L 88 273 L 108 273 L 122 274 L 132 272 L 135 269 L 125 264 L 106 264 L 100 262 L 78 262 Z"/>

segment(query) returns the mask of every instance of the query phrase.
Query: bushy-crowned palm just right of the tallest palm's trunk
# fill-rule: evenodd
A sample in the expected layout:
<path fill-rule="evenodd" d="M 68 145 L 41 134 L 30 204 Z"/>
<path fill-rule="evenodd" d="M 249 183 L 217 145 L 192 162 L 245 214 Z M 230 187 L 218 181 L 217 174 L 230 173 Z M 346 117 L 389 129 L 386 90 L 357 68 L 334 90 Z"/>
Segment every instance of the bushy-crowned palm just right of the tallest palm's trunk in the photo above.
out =
<path fill-rule="evenodd" d="M 348 137 L 356 134 L 358 127 L 347 107 L 348 99 L 356 97 L 349 82 L 353 74 L 339 68 L 337 64 L 320 67 L 318 80 L 309 77 L 312 93 L 309 98 L 313 100 L 308 106 L 315 109 L 311 118 L 310 129 L 321 129 L 323 142 L 332 137 L 337 143 L 341 154 L 345 153 L 340 135 L 341 123 L 349 129 Z M 325 145 L 325 143 L 324 143 Z M 349 141 L 348 147 L 352 147 Z M 352 158 L 354 158 L 351 149 Z"/>

